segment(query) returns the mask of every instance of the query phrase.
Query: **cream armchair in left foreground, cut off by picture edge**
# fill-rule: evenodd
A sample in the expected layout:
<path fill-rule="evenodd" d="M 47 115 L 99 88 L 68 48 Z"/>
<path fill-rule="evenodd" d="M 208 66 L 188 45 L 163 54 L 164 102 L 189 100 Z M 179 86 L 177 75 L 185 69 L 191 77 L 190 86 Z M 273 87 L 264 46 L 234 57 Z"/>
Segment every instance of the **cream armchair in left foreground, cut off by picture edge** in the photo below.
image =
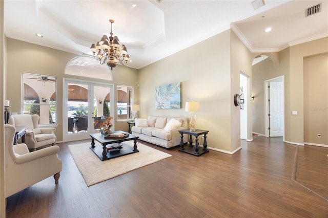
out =
<path fill-rule="evenodd" d="M 5 124 L 6 198 L 39 181 L 54 176 L 58 183 L 62 167 L 57 145 L 29 152 L 26 144 L 13 145 L 16 129 Z"/>

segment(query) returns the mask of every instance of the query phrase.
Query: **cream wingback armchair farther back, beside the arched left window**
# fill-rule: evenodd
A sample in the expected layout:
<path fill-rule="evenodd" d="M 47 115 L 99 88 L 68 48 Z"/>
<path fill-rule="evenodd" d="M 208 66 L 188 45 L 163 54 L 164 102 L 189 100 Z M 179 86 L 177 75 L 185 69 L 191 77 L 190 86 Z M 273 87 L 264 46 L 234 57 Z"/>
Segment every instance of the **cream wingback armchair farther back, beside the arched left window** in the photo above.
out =
<path fill-rule="evenodd" d="M 26 126 L 25 144 L 32 151 L 45 145 L 54 145 L 57 141 L 55 128 L 39 128 L 37 114 L 14 114 L 9 118 L 13 126 Z"/>

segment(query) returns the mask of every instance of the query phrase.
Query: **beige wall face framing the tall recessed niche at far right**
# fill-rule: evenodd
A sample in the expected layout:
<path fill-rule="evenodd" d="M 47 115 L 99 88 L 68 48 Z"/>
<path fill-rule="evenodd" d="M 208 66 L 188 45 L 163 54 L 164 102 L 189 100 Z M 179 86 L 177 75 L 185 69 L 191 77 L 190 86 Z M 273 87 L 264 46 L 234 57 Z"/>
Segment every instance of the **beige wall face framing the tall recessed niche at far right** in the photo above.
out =
<path fill-rule="evenodd" d="M 304 143 L 303 58 L 327 52 L 328 37 L 290 47 L 290 96 L 287 96 L 290 101 L 285 101 L 285 106 L 289 108 L 289 114 L 292 111 L 298 111 L 298 115 L 290 116 L 290 119 L 285 122 L 286 141 Z M 287 129 L 290 130 L 289 134 L 287 134 Z"/>

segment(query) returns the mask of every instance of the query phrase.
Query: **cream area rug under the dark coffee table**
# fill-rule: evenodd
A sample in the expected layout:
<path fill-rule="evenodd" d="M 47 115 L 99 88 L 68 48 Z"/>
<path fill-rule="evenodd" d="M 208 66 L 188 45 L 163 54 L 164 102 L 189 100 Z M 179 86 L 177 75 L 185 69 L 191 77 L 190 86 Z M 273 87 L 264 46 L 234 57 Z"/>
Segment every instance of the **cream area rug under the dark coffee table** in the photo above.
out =
<path fill-rule="evenodd" d="M 133 147 L 133 141 L 124 142 Z M 172 155 L 137 143 L 139 152 L 101 161 L 90 149 L 91 143 L 69 145 L 72 157 L 87 186 L 106 181 L 134 169 L 155 163 Z M 95 146 L 101 146 L 97 144 Z M 113 167 L 115 166 L 115 167 Z"/>

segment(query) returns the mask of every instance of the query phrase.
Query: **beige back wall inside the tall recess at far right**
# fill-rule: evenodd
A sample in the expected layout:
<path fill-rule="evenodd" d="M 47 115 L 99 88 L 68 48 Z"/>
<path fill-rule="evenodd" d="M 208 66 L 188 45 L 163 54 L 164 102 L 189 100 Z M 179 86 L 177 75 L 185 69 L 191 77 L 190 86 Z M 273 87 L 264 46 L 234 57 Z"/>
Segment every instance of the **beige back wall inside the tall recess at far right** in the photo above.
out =
<path fill-rule="evenodd" d="M 328 146 L 328 54 L 304 58 L 303 69 L 304 142 Z"/>

